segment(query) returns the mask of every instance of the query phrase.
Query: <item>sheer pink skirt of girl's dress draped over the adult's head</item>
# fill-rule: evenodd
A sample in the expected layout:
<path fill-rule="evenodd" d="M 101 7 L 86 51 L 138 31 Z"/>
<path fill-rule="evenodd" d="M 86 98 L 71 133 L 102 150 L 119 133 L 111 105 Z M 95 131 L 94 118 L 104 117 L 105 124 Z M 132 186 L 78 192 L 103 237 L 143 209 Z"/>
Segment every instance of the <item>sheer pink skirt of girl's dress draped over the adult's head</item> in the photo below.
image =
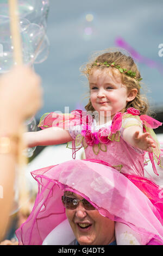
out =
<path fill-rule="evenodd" d="M 163 243 L 163 190 L 151 180 L 123 175 L 96 160 L 71 160 L 35 170 L 32 175 L 38 193 L 30 216 L 16 231 L 20 245 L 41 245 L 66 219 L 61 202 L 64 190 L 80 194 L 101 215 L 148 237 L 149 244 Z"/>

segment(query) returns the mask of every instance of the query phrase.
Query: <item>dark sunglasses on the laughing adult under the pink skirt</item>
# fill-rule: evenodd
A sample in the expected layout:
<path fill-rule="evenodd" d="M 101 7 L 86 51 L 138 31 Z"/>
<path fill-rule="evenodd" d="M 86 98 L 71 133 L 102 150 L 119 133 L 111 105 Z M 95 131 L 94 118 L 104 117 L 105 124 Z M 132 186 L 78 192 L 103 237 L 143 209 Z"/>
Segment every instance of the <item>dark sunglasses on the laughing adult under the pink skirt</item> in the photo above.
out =
<path fill-rule="evenodd" d="M 85 210 L 95 210 L 96 208 L 90 204 L 86 199 L 77 199 L 77 198 L 72 198 L 72 197 L 66 197 L 62 196 L 62 203 L 64 204 L 66 209 L 71 209 L 74 210 L 77 208 L 79 202 L 83 203 L 83 206 Z"/>

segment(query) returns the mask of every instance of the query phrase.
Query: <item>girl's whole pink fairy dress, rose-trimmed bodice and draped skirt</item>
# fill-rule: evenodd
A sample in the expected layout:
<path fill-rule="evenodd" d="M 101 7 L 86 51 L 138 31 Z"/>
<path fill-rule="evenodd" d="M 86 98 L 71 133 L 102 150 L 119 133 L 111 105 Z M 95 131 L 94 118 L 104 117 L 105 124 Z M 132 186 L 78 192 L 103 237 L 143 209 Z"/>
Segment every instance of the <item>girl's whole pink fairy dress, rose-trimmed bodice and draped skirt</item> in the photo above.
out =
<path fill-rule="evenodd" d="M 90 115 L 80 110 L 70 115 L 49 113 L 43 116 L 39 126 L 69 130 L 73 138 L 73 158 L 76 151 L 84 147 L 86 160 L 71 160 L 32 172 L 39 193 L 28 220 L 16 232 L 20 244 L 42 244 L 66 219 L 60 198 L 64 190 L 78 192 L 96 205 L 100 214 L 114 220 L 119 236 L 125 224 L 140 235 L 140 244 L 163 244 L 163 190 L 145 178 L 144 168 L 151 160 L 155 175 L 159 175 L 155 162 L 161 166 L 161 150 L 152 129 L 161 123 L 139 114 L 129 108 L 103 126 L 97 126 Z M 154 139 L 156 148 L 148 158 L 146 151 L 135 149 L 123 140 L 123 129 L 131 125 L 139 125 Z M 118 226 L 119 223 L 122 225 Z"/>

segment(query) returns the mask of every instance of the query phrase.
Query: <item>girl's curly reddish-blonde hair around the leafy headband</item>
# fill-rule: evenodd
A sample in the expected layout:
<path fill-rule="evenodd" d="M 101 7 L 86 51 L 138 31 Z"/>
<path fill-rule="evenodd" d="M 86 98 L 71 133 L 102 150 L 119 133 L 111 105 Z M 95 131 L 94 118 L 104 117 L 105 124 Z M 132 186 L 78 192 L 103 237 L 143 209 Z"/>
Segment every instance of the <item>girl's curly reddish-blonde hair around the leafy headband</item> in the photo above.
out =
<path fill-rule="evenodd" d="M 97 53 L 96 53 L 97 55 Z M 116 68 L 114 67 L 106 67 L 105 65 L 95 65 L 95 63 L 115 63 L 115 65 L 121 66 L 122 69 L 131 70 L 132 72 L 135 72 L 135 78 L 132 78 L 130 76 L 127 76 L 124 72 L 120 75 L 122 77 L 122 84 L 127 87 L 127 92 L 130 92 L 131 89 L 136 88 L 137 89 L 137 95 L 133 101 L 130 101 L 127 103 L 127 106 L 125 109 L 122 109 L 122 112 L 126 112 L 127 108 L 134 107 L 136 109 L 139 109 L 140 114 L 146 114 L 149 112 L 149 105 L 147 98 L 145 96 L 140 95 L 140 82 L 136 79 L 141 78 L 140 72 L 137 69 L 137 65 L 135 64 L 133 58 L 130 56 L 126 56 L 126 54 L 123 54 L 120 51 L 115 52 L 105 52 L 101 55 L 98 55 L 97 57 L 93 57 L 90 62 L 83 65 L 80 70 L 84 75 L 86 75 L 87 78 L 89 78 L 90 73 L 95 69 L 110 69 L 114 75 L 114 71 Z M 91 100 L 89 99 L 89 102 L 85 106 L 86 111 L 95 111 L 95 109 L 92 106 Z M 149 113 L 148 113 L 149 114 Z"/>

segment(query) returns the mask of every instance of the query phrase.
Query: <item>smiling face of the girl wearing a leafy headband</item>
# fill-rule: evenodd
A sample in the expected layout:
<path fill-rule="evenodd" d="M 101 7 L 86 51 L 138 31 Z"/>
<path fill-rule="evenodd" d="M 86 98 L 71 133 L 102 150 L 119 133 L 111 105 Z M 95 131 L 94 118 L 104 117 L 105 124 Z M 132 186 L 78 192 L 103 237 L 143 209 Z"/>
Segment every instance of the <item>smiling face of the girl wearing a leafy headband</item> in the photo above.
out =
<path fill-rule="evenodd" d="M 114 115 L 125 108 L 130 101 L 118 70 L 114 70 L 114 75 L 108 68 L 92 70 L 89 84 L 92 106 L 100 116 L 110 116 L 112 120 Z"/>

